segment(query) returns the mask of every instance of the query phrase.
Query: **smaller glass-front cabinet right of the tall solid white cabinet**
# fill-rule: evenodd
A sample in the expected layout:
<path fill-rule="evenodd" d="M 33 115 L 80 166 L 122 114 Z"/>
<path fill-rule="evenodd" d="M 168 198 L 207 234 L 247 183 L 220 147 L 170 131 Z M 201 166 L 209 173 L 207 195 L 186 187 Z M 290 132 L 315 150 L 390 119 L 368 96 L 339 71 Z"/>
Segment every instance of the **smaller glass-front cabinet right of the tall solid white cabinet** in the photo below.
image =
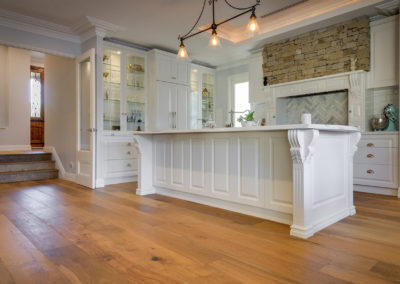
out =
<path fill-rule="evenodd" d="M 190 73 L 191 128 L 203 128 L 207 120 L 215 120 L 215 71 L 192 64 Z"/>

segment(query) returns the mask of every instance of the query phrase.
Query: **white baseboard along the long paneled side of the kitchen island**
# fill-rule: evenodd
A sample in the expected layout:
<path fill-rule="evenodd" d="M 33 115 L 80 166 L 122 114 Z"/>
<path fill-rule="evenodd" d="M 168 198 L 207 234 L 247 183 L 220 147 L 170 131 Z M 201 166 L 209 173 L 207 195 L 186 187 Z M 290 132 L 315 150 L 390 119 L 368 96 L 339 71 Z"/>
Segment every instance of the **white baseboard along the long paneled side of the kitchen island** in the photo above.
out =
<path fill-rule="evenodd" d="M 220 209 L 225 209 L 237 213 L 242 213 L 254 217 L 259 217 L 262 219 L 283 223 L 291 225 L 293 223 L 292 214 L 277 212 L 274 210 L 269 210 L 266 208 L 254 207 L 245 204 L 239 204 L 231 201 L 220 200 L 212 197 L 192 194 L 188 192 L 180 192 L 171 189 L 155 187 L 156 193 L 161 195 L 166 195 L 174 198 L 183 199 L 186 201 L 191 201 L 195 203 L 200 203 L 212 207 L 217 207 Z"/>

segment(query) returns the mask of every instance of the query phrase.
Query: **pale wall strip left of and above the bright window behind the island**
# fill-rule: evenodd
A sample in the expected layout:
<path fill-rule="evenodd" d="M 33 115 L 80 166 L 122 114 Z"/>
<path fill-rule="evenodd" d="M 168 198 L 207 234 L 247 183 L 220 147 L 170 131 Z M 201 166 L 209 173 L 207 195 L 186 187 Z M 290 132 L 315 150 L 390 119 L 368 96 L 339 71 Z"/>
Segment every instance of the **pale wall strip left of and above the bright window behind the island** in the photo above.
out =
<path fill-rule="evenodd" d="M 231 68 L 217 68 L 215 76 L 215 122 L 217 127 L 224 127 L 225 121 L 229 120 L 229 77 L 246 72 L 249 72 L 249 64 L 247 62 Z"/>

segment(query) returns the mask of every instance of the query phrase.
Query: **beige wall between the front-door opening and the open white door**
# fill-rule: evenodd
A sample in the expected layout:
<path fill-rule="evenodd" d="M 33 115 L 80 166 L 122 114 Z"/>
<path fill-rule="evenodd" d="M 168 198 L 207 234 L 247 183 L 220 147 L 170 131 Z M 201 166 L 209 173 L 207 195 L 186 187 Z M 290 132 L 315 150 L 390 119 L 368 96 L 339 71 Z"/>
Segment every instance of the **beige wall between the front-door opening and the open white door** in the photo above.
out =
<path fill-rule="evenodd" d="M 75 173 L 75 60 L 46 54 L 44 68 L 45 145 L 56 149 L 66 172 Z"/>

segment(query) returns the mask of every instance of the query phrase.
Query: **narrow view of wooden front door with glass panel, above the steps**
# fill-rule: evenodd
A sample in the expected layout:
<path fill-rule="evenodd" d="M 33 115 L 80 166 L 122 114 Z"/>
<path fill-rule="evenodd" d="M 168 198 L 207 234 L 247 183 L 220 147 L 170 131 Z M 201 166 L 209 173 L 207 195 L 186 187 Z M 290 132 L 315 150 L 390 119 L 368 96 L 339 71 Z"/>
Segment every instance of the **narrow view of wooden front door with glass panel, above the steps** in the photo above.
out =
<path fill-rule="evenodd" d="M 31 66 L 31 146 L 44 146 L 44 68 Z"/>

